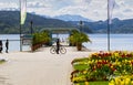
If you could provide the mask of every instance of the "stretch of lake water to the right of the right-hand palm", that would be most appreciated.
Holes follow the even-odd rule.
[[[106,34],[89,34],[92,43],[84,43],[89,50],[108,51]],[[133,34],[111,34],[110,35],[111,51],[133,51]]]

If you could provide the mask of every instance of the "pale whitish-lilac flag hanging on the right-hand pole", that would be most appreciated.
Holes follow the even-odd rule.
[[[112,23],[112,12],[115,6],[115,0],[108,0],[109,24]]]

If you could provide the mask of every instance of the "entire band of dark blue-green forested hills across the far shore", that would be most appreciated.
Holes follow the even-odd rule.
[[[19,11],[0,11],[0,34],[16,34],[20,32]],[[74,19],[71,19],[74,20]],[[27,14],[25,24],[22,25],[22,33],[30,33],[33,21],[33,31],[40,31],[44,28],[79,28],[79,21],[63,21],[58,19],[45,18],[37,14]],[[83,20],[82,20],[83,21]],[[82,31],[86,33],[106,33],[108,21],[89,22],[83,21]],[[133,19],[120,20],[113,19],[111,24],[111,33],[133,33]]]

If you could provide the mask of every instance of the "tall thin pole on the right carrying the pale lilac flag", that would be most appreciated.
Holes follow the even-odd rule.
[[[110,52],[110,10],[109,10],[109,0],[108,0],[108,51]]]

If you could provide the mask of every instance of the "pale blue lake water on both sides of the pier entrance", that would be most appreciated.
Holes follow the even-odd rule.
[[[61,40],[66,40],[68,34],[53,35],[59,36]],[[106,34],[89,34],[92,43],[83,43],[91,51],[108,51],[108,35]],[[0,40],[3,40],[3,52],[4,52],[4,40],[9,40],[9,52],[20,51],[20,38],[19,34],[0,34]],[[111,34],[111,51],[133,51],[133,34]],[[29,51],[30,46],[23,46],[23,51]]]

